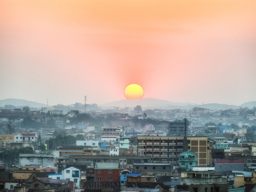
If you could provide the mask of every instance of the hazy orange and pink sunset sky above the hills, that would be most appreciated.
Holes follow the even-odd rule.
[[[256,1],[0,0],[0,100],[256,100]]]

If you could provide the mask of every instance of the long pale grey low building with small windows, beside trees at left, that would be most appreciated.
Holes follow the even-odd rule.
[[[19,155],[20,166],[26,165],[42,165],[46,167],[48,165],[54,166],[53,155],[44,154],[20,154]]]

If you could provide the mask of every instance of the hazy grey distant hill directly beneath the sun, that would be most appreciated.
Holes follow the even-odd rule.
[[[140,105],[143,108],[165,108],[171,106],[189,106],[196,105],[195,103],[180,103],[180,102],[172,102],[167,100],[160,100],[154,98],[142,98],[142,99],[123,99],[119,101],[112,101],[108,103],[104,103],[99,105],[100,107],[136,107]]]

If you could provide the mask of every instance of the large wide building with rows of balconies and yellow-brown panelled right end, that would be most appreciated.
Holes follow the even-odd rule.
[[[207,137],[138,136],[137,155],[151,156],[152,163],[172,163],[179,166],[180,153],[198,153],[198,166],[210,165],[210,141]]]

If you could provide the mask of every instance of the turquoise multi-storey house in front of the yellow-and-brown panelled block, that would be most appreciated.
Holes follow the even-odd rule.
[[[179,167],[189,171],[192,167],[197,167],[197,153],[192,151],[187,151],[180,153]]]

